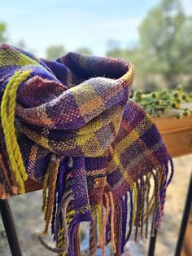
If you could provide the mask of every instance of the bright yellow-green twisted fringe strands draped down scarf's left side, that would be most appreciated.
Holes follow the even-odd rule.
[[[22,82],[29,76],[31,71],[16,72],[7,84],[1,104],[2,129],[5,136],[7,154],[10,160],[11,170],[15,173],[16,182],[19,185],[19,192],[24,193],[24,181],[28,174],[24,168],[20,147],[15,135],[15,105],[16,92]]]

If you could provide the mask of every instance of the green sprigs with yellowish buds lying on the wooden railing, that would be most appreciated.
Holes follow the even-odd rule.
[[[182,104],[192,102],[192,94],[187,94],[182,86],[177,86],[176,90],[162,90],[144,93],[135,90],[132,99],[153,116],[159,117],[165,110],[177,109],[173,116],[181,118],[189,117],[192,113],[189,108],[182,107]]]

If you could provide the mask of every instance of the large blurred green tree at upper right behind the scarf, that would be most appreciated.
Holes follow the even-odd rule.
[[[161,73],[169,86],[192,65],[192,16],[185,15],[180,0],[163,0],[139,27],[147,73]]]

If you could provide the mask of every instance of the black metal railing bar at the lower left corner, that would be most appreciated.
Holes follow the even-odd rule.
[[[15,222],[8,199],[0,200],[0,212],[2,214],[2,222],[7,233],[7,240],[11,249],[12,256],[22,256],[20,249],[20,241],[16,232]]]

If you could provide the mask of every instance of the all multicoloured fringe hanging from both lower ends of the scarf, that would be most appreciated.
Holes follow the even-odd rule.
[[[169,170],[171,172],[168,177]],[[75,216],[72,210],[73,197],[70,184],[66,186],[68,190],[55,188],[56,184],[61,183],[59,179],[63,179],[63,173],[67,177],[68,172],[64,170],[63,160],[53,157],[44,180],[42,210],[45,212],[46,221],[44,234],[48,230],[52,213],[51,232],[57,246],[56,248],[48,246],[41,236],[40,241],[47,249],[58,253],[59,256],[80,255],[79,223],[74,223],[71,232],[69,231]],[[124,246],[133,232],[136,242],[138,236],[148,237],[150,220],[151,235],[153,235],[155,229],[160,227],[163,218],[166,189],[172,174],[173,164],[170,160],[164,166],[151,170],[137,180],[119,202],[115,201],[112,192],[107,189],[103,194],[103,203],[98,208],[98,214],[89,226],[89,254],[95,256],[97,248],[100,248],[105,256],[105,247],[109,242],[115,256],[123,254]]]

